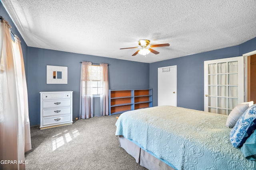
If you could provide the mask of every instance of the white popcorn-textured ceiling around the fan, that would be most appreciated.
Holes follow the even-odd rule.
[[[30,47],[153,63],[256,37],[256,0],[1,0]],[[1,15],[1,14],[0,14]],[[132,56],[139,39],[160,52]]]

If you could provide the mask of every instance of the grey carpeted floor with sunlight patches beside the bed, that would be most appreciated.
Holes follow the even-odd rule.
[[[44,130],[31,127],[26,170],[146,170],[119,147],[116,116],[80,119]]]

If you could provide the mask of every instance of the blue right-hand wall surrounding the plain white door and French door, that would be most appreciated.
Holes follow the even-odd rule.
[[[177,106],[204,110],[204,61],[238,57],[256,50],[256,38],[240,45],[150,64],[153,106],[158,105],[158,68],[177,65]]]

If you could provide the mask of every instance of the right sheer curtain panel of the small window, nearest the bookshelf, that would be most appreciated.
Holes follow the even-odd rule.
[[[100,95],[100,113],[108,115],[108,64],[102,63],[103,94]]]

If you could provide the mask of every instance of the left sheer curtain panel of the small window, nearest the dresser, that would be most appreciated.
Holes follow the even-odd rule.
[[[90,88],[90,66],[91,62],[83,61],[81,69],[81,89],[80,89],[80,118],[89,119],[93,117],[92,111],[92,90]]]

